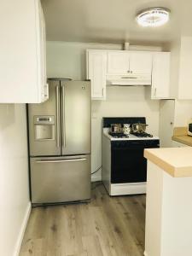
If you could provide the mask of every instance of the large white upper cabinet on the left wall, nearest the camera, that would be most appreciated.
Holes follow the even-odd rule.
[[[0,102],[44,102],[45,25],[40,1],[3,0],[0,15]]]

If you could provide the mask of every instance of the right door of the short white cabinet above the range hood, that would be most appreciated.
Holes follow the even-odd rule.
[[[132,52],[130,53],[130,73],[151,74],[152,53]]]

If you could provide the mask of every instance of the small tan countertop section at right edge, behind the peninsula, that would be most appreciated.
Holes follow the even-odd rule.
[[[192,137],[187,135],[187,127],[175,127],[172,140],[192,147]]]

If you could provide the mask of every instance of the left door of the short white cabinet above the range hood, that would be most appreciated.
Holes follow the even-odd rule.
[[[124,51],[108,53],[108,73],[127,74],[129,69],[129,54]]]

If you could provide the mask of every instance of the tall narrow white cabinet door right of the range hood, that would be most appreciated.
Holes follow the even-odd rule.
[[[158,52],[153,56],[152,99],[170,97],[170,53]]]

